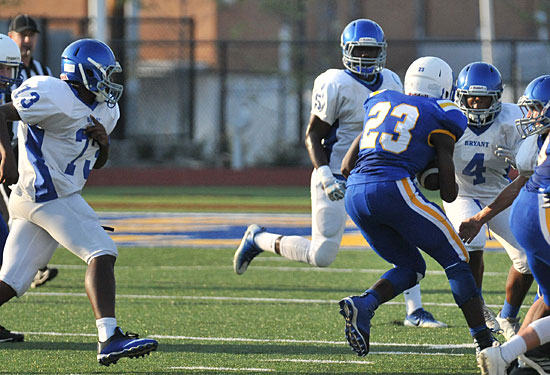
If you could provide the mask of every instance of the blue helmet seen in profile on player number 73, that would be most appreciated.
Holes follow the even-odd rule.
[[[78,82],[96,96],[96,101],[109,107],[119,101],[123,86],[111,81],[111,75],[122,68],[111,48],[96,39],[80,39],[61,54],[61,79]]]

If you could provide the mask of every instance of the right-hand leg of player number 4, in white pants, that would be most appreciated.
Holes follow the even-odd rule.
[[[506,340],[509,340],[519,330],[519,310],[533,283],[527,254],[510,231],[510,213],[511,210],[507,209],[489,222],[491,233],[504,247],[512,261],[506,279],[504,304],[497,316],[497,321]]]

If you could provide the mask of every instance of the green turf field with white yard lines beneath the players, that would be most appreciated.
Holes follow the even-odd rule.
[[[189,211],[309,210],[307,188],[90,188],[85,196],[98,211],[115,203],[120,204],[116,211],[178,211],[182,206]],[[51,262],[59,276],[1,308],[0,324],[26,338],[0,344],[0,374],[479,373],[466,323],[444,273],[430,258],[423,301],[449,328],[404,327],[405,308],[398,296],[377,310],[371,353],[359,358],[345,342],[337,301],[361,293],[389,267],[372,251],[343,250],[327,269],[262,254],[242,276],[232,270],[234,249],[132,247],[119,252],[118,322],[124,330],[156,338],[158,351],[110,367],[96,363],[85,266],[59,249]],[[509,266],[505,253],[486,253],[484,296],[495,309],[504,298]]]

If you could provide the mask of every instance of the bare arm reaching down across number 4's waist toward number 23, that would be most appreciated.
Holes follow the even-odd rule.
[[[519,191],[529,178],[518,176],[495,197],[493,202],[484,207],[476,215],[465,219],[458,228],[458,235],[465,243],[470,243],[479,233],[485,223],[504,211],[514,202]]]

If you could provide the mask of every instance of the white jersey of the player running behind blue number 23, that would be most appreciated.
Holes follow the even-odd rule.
[[[342,159],[363,129],[363,104],[368,96],[373,91],[384,89],[403,92],[403,84],[397,74],[384,69],[380,75],[382,80],[376,85],[368,85],[342,69],[329,69],[315,79],[311,114],[332,127],[323,145],[333,174],[342,174]]]

